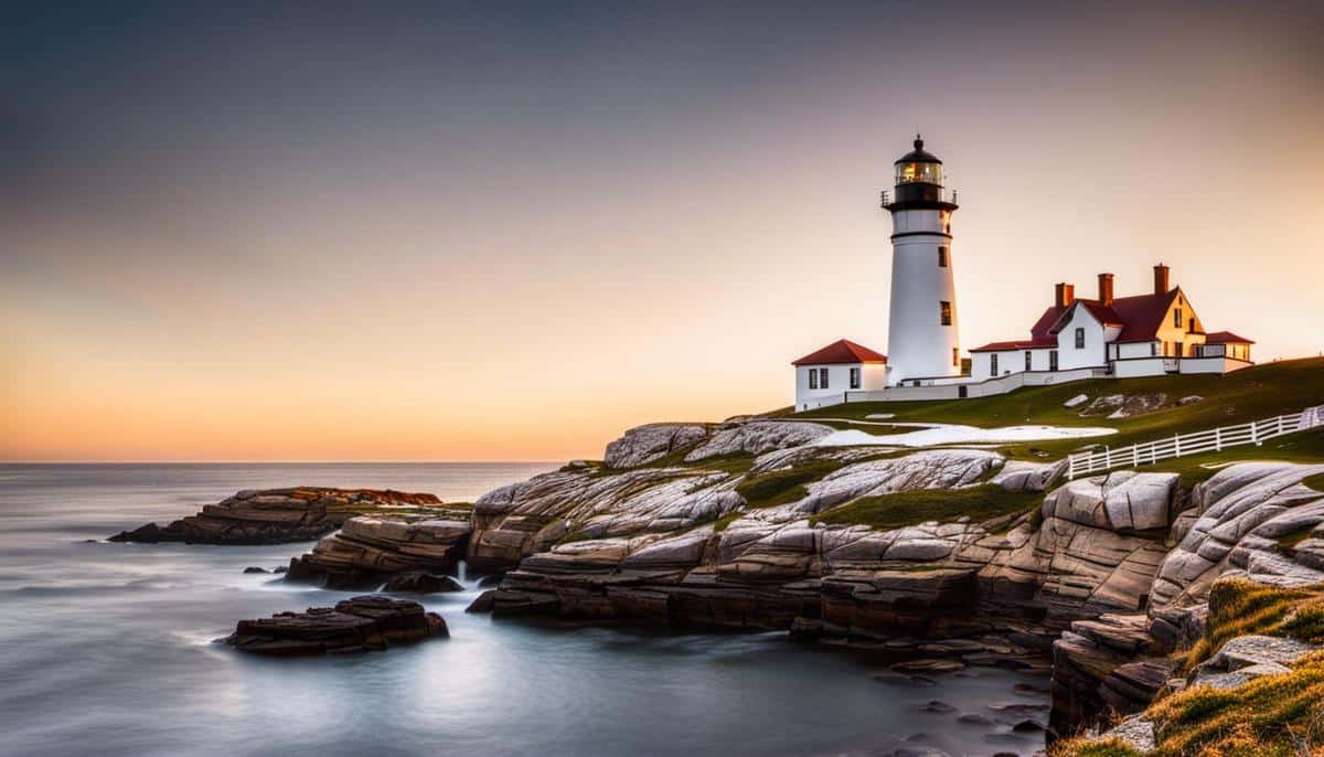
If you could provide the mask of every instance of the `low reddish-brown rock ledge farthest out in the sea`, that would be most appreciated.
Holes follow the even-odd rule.
[[[148,523],[111,536],[111,541],[184,541],[188,544],[282,544],[308,541],[364,512],[400,513],[441,506],[430,494],[393,490],[294,487],[241,491],[168,525]]]

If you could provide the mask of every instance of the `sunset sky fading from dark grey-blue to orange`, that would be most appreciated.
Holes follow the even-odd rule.
[[[878,192],[960,192],[961,343],[1172,266],[1324,348],[1324,5],[7,4],[0,459],[553,461],[887,349]]]

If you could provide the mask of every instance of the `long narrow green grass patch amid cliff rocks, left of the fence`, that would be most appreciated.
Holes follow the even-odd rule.
[[[982,523],[1038,508],[1042,502],[1042,492],[1006,491],[996,484],[957,490],[927,488],[863,496],[813,516],[810,524],[891,529],[928,520],[955,520],[963,515]]]

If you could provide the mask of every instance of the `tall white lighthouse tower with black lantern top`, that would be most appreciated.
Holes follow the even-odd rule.
[[[883,192],[892,214],[888,386],[961,373],[952,282],[956,193],[943,188],[943,161],[924,151],[919,135],[895,165],[895,193]]]

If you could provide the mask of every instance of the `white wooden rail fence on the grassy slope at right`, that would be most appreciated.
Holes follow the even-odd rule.
[[[1192,434],[1173,434],[1129,447],[1115,450],[1104,447],[1103,451],[1078,453],[1067,458],[1067,478],[1074,479],[1116,467],[1136,467],[1169,458],[1221,451],[1223,447],[1259,445],[1264,439],[1295,434],[1321,425],[1324,425],[1324,405],[1237,426],[1222,426]]]

